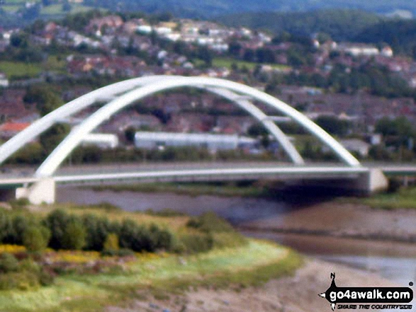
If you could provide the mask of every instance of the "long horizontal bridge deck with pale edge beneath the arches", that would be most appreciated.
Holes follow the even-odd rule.
[[[416,175],[416,166],[347,167],[334,164],[293,166],[288,163],[149,163],[106,166],[68,166],[53,177],[56,183],[100,183],[106,180],[241,180],[258,178],[315,179],[356,178],[371,168],[379,168],[386,175]],[[0,187],[27,185],[39,178],[30,176],[26,168],[0,175]],[[13,176],[14,175],[14,176]]]

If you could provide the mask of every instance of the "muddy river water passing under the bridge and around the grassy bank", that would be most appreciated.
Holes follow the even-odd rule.
[[[243,197],[189,196],[171,193],[93,191],[81,187],[58,187],[57,202],[98,204],[109,202],[127,211],[174,209],[190,215],[214,211],[235,226],[251,221],[285,222],[293,207],[288,202]],[[319,216],[317,216],[319,217]],[[332,262],[376,272],[399,285],[416,280],[416,243],[366,241],[353,238],[243,231],[245,235],[267,238],[304,253]]]

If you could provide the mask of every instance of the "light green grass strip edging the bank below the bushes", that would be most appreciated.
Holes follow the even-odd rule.
[[[241,248],[180,259],[178,255],[137,255],[123,272],[68,275],[50,287],[0,291],[0,311],[102,311],[105,306],[143,299],[140,289],[162,296],[190,287],[247,287],[290,275],[301,263],[300,256],[287,248],[254,240]]]

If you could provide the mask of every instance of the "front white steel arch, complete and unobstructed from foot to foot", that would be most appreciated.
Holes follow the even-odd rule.
[[[69,135],[61,142],[57,148],[52,151],[50,156],[47,157],[45,162],[38,168],[35,175],[38,177],[51,176],[56,169],[60,166],[60,163],[69,155],[69,153],[77,147],[86,134],[89,134],[96,127],[101,125],[102,122],[108,120],[113,114],[119,110],[131,105],[141,98],[150,96],[160,91],[166,91],[172,88],[180,87],[195,87],[195,88],[224,88],[236,93],[243,94],[259,100],[271,107],[279,110],[283,115],[291,117],[300,125],[308,129],[324,144],[332,149],[339,158],[344,161],[348,166],[360,166],[359,161],[352,156],[344,147],[339,144],[330,134],[327,134],[322,128],[317,126],[308,117],[305,117],[302,113],[298,112],[291,106],[283,103],[281,100],[269,96],[268,94],[259,91],[255,88],[244,86],[241,83],[235,83],[232,81],[226,81],[223,79],[213,79],[206,77],[180,77],[176,79],[156,81],[149,83],[142,88],[138,88],[134,91],[125,93],[123,96],[112,100],[110,103],[104,105],[102,108],[94,112],[91,116],[86,118],[80,127],[74,129]]]

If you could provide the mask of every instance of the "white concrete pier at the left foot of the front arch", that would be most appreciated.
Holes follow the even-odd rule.
[[[44,178],[28,187],[16,189],[16,199],[27,198],[31,204],[53,204],[55,202],[55,180]]]

